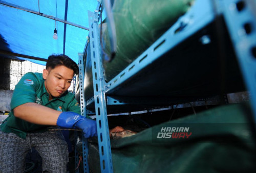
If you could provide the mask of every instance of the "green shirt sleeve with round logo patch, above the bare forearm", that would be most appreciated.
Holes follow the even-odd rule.
[[[35,102],[36,90],[39,80],[34,73],[26,73],[16,84],[12,99],[11,109],[28,102]]]

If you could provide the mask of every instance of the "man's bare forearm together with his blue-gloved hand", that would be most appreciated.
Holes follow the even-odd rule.
[[[25,103],[14,108],[14,116],[31,123],[80,128],[85,138],[97,136],[96,121],[74,112],[60,112],[37,103]]]

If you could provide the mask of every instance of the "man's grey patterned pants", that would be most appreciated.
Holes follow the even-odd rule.
[[[60,131],[28,133],[26,139],[0,131],[0,173],[24,172],[31,147],[40,154],[43,171],[67,172],[68,147]]]

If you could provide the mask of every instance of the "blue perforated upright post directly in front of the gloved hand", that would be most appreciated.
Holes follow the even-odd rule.
[[[105,82],[103,76],[100,40],[98,31],[98,12],[88,11],[89,34],[92,57],[93,89],[97,119],[99,158],[101,172],[113,172],[110,147],[109,125],[106,114]]]

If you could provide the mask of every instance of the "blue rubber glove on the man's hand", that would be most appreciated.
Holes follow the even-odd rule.
[[[62,112],[57,119],[57,125],[64,128],[79,128],[84,138],[97,136],[96,121],[74,112]]]

